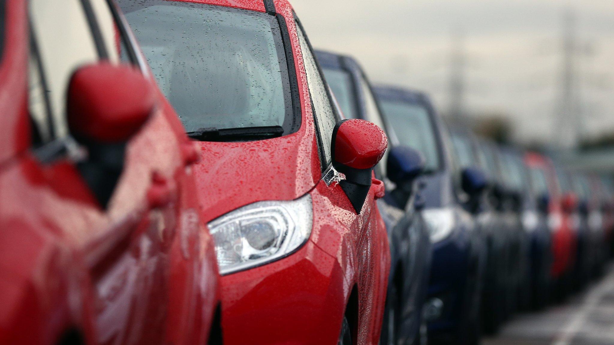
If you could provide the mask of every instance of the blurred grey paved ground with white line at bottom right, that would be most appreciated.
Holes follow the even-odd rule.
[[[483,345],[614,344],[614,266],[586,292],[561,306],[521,314]]]

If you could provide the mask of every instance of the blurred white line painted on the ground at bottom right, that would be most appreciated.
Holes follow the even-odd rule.
[[[573,337],[580,331],[580,328],[586,322],[586,318],[591,311],[599,304],[599,301],[604,297],[608,290],[614,289],[614,276],[609,274],[607,279],[604,279],[589,293],[586,297],[583,306],[575,314],[573,319],[562,328],[561,333],[557,336],[552,345],[570,345]]]

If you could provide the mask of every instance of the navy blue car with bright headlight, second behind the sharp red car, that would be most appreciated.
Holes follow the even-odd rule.
[[[374,90],[384,117],[394,124],[398,142],[425,158],[418,183],[433,243],[425,308],[429,343],[476,344],[486,251],[465,203],[481,197],[486,179],[480,172],[461,171],[454,165],[448,130],[427,96],[397,87]]]

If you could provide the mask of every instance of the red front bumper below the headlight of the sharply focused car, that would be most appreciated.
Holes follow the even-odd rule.
[[[221,285],[224,344],[336,344],[350,285],[313,242]]]

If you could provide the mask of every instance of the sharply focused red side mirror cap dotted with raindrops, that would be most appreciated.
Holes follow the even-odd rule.
[[[333,132],[333,161],[353,169],[371,169],[384,157],[386,133],[374,123],[353,118]]]

